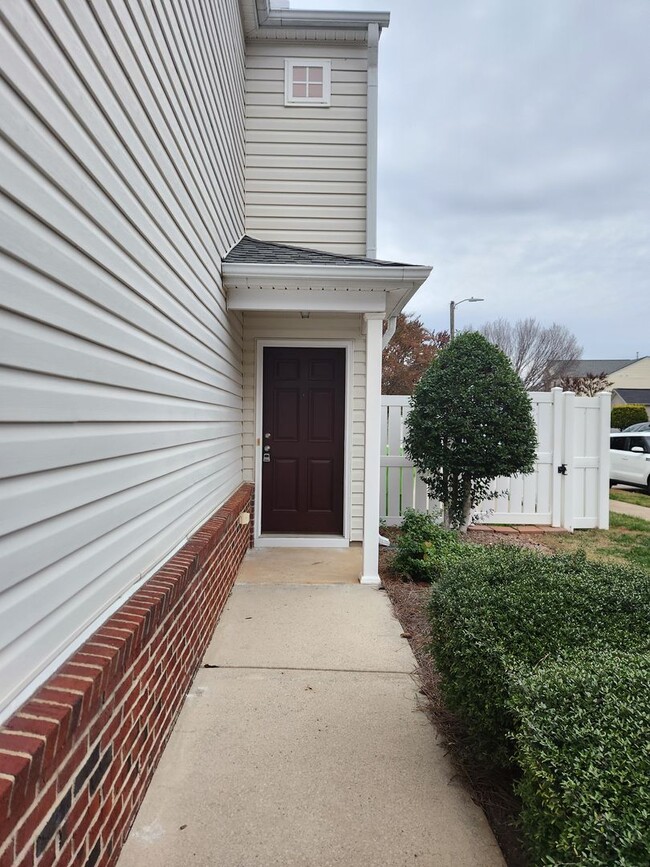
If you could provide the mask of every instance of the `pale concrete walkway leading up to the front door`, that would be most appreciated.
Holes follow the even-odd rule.
[[[255,561],[256,583],[235,586],[119,867],[503,867],[418,709],[385,593],[277,583],[272,568],[263,583],[264,553],[243,569]],[[336,555],[313,556],[336,581]]]

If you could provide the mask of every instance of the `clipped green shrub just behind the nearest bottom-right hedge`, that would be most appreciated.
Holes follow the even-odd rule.
[[[645,572],[506,545],[466,545],[441,572],[431,649],[445,700],[483,761],[511,759],[513,678],[580,648],[631,650],[648,640]]]

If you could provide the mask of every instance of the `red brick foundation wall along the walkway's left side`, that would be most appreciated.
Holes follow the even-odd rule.
[[[250,543],[242,487],[0,728],[0,867],[116,863]]]

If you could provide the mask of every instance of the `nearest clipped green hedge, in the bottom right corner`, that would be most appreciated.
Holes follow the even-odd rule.
[[[650,864],[650,655],[582,654],[513,689],[535,864]]]

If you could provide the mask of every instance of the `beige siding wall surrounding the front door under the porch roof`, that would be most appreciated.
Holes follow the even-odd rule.
[[[350,461],[350,541],[363,539],[363,474],[365,436],[366,351],[362,320],[358,315],[325,316],[299,313],[244,314],[244,478],[255,481],[255,413],[257,341],[351,340],[353,341],[352,425]],[[259,493],[261,496],[261,492]]]

